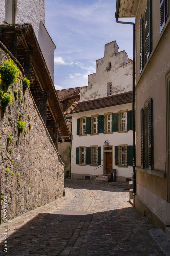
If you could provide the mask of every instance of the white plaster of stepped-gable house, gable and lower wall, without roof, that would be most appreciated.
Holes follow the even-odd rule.
[[[110,65],[110,66],[109,66]],[[111,87],[108,88],[108,85]],[[111,90],[111,91],[110,91]],[[128,56],[125,51],[118,52],[118,46],[116,41],[110,42],[105,45],[104,49],[104,58],[101,58],[96,61],[96,73],[90,74],[88,76],[88,87],[82,88],[80,90],[80,102],[73,103],[72,109],[69,113],[69,110],[66,111],[66,114],[72,115],[72,171],[71,177],[75,179],[85,179],[88,178],[93,179],[96,178],[97,175],[107,174],[107,161],[106,161],[106,146],[104,146],[104,142],[108,140],[108,147],[111,149],[108,151],[112,153],[112,169],[116,169],[116,177],[118,182],[125,182],[131,180],[133,166],[126,165],[123,166],[120,164],[120,150],[123,145],[132,147],[133,145],[133,133],[132,128],[126,131],[111,131],[107,132],[107,128],[100,133],[93,134],[93,131],[90,134],[78,134],[77,135],[77,120],[82,120],[83,118],[91,118],[93,120],[94,116],[104,116],[104,126],[106,126],[107,122],[107,114],[115,114],[119,113],[119,127],[121,121],[121,113],[132,111],[132,101],[123,102],[120,104],[116,104],[116,102],[109,106],[105,105],[105,102],[102,106],[95,108],[90,106],[87,111],[77,110],[78,104],[86,104],[86,102],[93,102],[94,99],[104,98],[104,101],[107,101],[107,97],[113,97],[114,94],[122,97],[122,93],[132,91],[132,61],[128,60]],[[108,96],[107,96],[108,95]],[[111,98],[110,98],[111,99]],[[97,103],[97,102],[96,102]],[[76,110],[74,111],[74,105],[76,105]],[[132,113],[132,112],[131,112]],[[113,116],[112,116],[113,120]],[[79,122],[79,121],[78,121]],[[93,121],[91,121],[93,123]],[[91,123],[91,125],[92,125]],[[80,124],[82,126],[82,123]],[[80,129],[83,130],[82,127]],[[76,163],[76,150],[79,148],[79,159],[81,161],[81,153],[80,150],[82,147],[90,147],[90,152],[92,152],[93,147],[101,147],[101,164],[79,164]],[[115,147],[119,147],[119,164],[115,163]],[[92,155],[91,155],[92,156]],[[133,158],[133,157],[132,157]],[[132,161],[133,162],[133,161]],[[98,168],[100,167],[100,168]],[[98,168],[98,169],[96,169]],[[95,176],[94,176],[94,169]],[[109,174],[109,173],[108,173]],[[109,174],[110,175],[110,174]],[[86,177],[85,177],[86,176]]]

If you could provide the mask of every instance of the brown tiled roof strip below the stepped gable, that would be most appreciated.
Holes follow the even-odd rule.
[[[120,105],[129,102],[132,102],[132,91],[110,95],[99,99],[73,103],[70,108],[64,112],[64,114],[82,112],[91,109],[106,108],[108,106]]]

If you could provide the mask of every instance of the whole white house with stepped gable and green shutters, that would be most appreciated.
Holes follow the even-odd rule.
[[[80,101],[65,111],[72,116],[73,179],[110,178],[111,169],[118,182],[132,178],[132,60],[127,57],[116,41],[105,45]]]

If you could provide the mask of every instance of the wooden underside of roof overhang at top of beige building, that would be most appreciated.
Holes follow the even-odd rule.
[[[136,16],[139,0],[116,0],[116,15],[120,18]]]

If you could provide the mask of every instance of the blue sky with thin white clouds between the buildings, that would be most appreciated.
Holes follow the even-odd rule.
[[[132,29],[115,20],[116,0],[45,0],[45,26],[53,39],[57,90],[87,86],[104,57],[104,44],[116,40],[132,59]],[[134,18],[120,18],[134,22]]]

